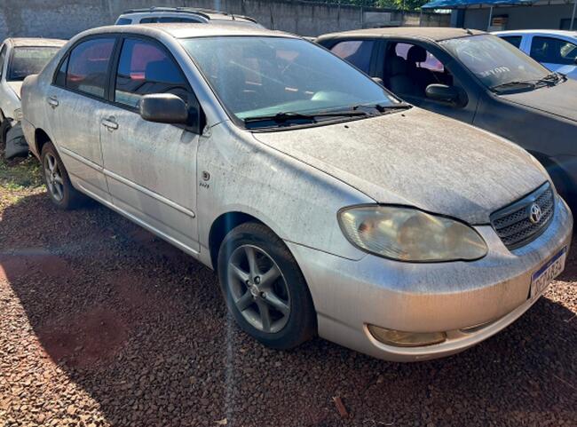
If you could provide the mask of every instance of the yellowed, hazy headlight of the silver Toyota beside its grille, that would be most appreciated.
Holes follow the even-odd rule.
[[[344,235],[361,250],[413,262],[485,257],[483,238],[469,225],[397,206],[356,206],[338,213]]]

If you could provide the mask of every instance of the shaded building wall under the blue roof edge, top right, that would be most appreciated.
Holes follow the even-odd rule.
[[[548,6],[495,7],[493,16],[509,15],[505,29],[559,29],[562,19],[571,19],[573,4]],[[489,9],[467,9],[464,11],[464,28],[486,30]]]

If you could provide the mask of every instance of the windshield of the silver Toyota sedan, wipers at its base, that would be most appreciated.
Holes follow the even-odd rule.
[[[301,39],[222,36],[181,43],[239,120],[399,105],[367,75]]]

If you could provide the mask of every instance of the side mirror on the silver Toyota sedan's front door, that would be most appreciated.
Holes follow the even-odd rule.
[[[188,123],[185,101],[172,93],[153,93],[140,99],[140,116],[148,122]]]

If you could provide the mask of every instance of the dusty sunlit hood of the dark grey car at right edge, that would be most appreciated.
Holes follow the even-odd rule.
[[[577,81],[574,80],[535,91],[510,93],[499,97],[577,122]]]

